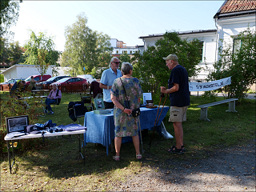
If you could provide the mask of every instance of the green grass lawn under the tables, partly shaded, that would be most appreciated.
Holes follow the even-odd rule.
[[[80,101],[80,95],[62,94],[62,102],[55,106],[55,113],[39,117],[37,122],[44,123],[51,119],[58,125],[78,123],[68,115],[67,106],[71,101]],[[175,144],[175,140],[162,138],[157,132],[149,147],[152,131],[143,138],[145,153],[142,154],[142,161],[136,160],[132,142],[122,144],[120,162],[112,159],[114,150],[106,156],[105,146],[88,143],[86,164],[83,164],[78,154],[76,135],[70,139],[46,138],[45,142],[42,142],[42,138],[24,139],[18,141],[15,150],[13,174],[9,171],[6,149],[1,153],[1,190],[111,190],[110,182],[123,182],[126,176],[132,177],[149,170],[158,171],[158,167],[174,169],[170,158],[177,158],[181,162],[208,158],[213,150],[238,143],[242,145],[255,137],[255,100],[238,102],[237,113],[225,112],[228,103],[209,107],[208,118],[211,121],[204,122],[198,119],[200,108],[196,106],[208,102],[206,98],[191,96],[187,121],[182,123],[187,150],[185,154],[167,153],[166,150]],[[166,130],[174,135],[168,116],[164,119]],[[84,118],[80,118],[82,125],[83,121]]]

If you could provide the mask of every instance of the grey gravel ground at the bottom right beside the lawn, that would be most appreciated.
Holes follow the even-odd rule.
[[[170,154],[166,170],[150,168],[126,182],[113,184],[126,191],[256,191],[255,139],[246,146],[216,150],[204,160],[179,161]]]

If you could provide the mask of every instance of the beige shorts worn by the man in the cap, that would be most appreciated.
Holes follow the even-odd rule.
[[[188,106],[170,106],[169,122],[185,122],[187,108]]]

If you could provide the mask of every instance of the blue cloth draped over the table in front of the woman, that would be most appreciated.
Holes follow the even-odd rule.
[[[154,122],[157,113],[159,116],[162,110],[159,120],[157,119],[158,125],[156,125],[160,126],[163,118],[166,117],[169,108],[169,106],[160,106],[158,110],[158,107],[141,107],[141,115],[139,116],[141,129],[154,130]],[[86,133],[84,134],[85,143],[100,143],[103,146],[106,146],[106,154],[109,155],[108,146],[111,144],[111,139],[114,139],[114,114],[94,114],[94,111],[86,112],[84,126],[87,128]]]

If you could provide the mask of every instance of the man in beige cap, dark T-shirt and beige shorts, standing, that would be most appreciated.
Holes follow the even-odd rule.
[[[178,64],[176,54],[169,54],[166,58],[166,66],[171,70],[168,80],[168,89],[161,86],[161,92],[170,96],[170,118],[173,122],[176,146],[168,150],[170,153],[183,154],[183,129],[182,122],[186,121],[186,110],[190,106],[190,90],[188,74],[183,66]]]

